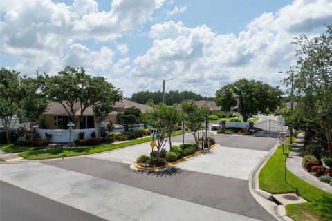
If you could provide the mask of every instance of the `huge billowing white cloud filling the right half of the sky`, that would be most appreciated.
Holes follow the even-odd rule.
[[[187,28],[181,21],[151,27],[153,44],[133,60],[133,77],[145,77],[142,90],[154,90],[152,81],[174,78],[168,90],[214,94],[224,84],[246,77],[279,85],[279,70],[294,62],[294,37],[332,21],[331,1],[294,1],[275,13],[264,13],[234,34],[216,35],[205,25]],[[328,22],[329,21],[329,22]],[[208,89],[207,89],[208,88]]]

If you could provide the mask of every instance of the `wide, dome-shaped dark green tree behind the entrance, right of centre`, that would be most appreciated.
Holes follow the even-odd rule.
[[[266,110],[275,111],[282,100],[282,90],[264,84],[261,81],[240,79],[216,91],[216,105],[224,111],[230,106],[238,104],[238,111],[247,122],[251,114]]]

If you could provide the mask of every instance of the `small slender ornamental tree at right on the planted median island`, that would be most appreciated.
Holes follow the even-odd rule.
[[[194,136],[195,143],[199,144],[199,130],[203,128],[205,118],[210,114],[207,106],[198,106],[196,102],[182,102],[181,104],[183,121]]]

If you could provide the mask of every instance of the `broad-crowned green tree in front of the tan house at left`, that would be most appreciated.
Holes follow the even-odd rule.
[[[58,75],[46,76],[46,95],[53,102],[62,104],[75,126],[83,120],[83,113],[97,102],[115,103],[122,99],[122,92],[107,82],[104,77],[91,77],[84,68],[66,67]],[[74,105],[80,105],[79,117]]]

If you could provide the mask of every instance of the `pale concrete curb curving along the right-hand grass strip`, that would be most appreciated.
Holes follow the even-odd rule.
[[[277,220],[292,221],[293,219],[289,218],[286,215],[286,209],[284,205],[276,204],[275,199],[273,198],[273,195],[271,193],[259,189],[259,178],[258,178],[259,172],[265,166],[266,162],[268,162],[268,159],[270,159],[273,153],[275,153],[278,146],[279,146],[279,141],[275,144],[275,146],[273,146],[273,148],[270,151],[268,151],[268,154],[266,154],[264,158],[261,159],[261,161],[250,172],[249,182],[248,182],[249,191],[254,196],[254,198],[255,195],[259,195],[260,197],[264,198],[264,200],[268,200],[268,203],[274,204],[272,210],[271,208],[267,208],[266,205],[261,204],[259,202],[259,204],[261,204],[261,206],[263,206],[264,209],[266,209],[266,211],[268,211],[268,213],[273,215],[273,217],[275,217]]]

